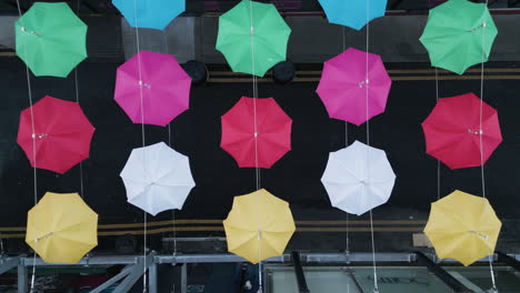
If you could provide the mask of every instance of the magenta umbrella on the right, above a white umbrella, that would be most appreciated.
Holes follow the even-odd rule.
[[[329,117],[360,125],[384,112],[391,84],[381,57],[349,48],[324,63],[316,92]]]

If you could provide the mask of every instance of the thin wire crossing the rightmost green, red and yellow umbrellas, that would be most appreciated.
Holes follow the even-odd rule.
[[[483,130],[482,130],[482,110],[483,110],[483,99],[484,99],[484,95],[483,95],[483,78],[484,78],[484,60],[486,60],[486,46],[484,46],[484,41],[486,41],[486,11],[488,9],[488,0],[486,0],[486,6],[484,6],[484,9],[483,9],[483,12],[482,12],[482,26],[481,26],[481,29],[482,29],[482,62],[481,62],[481,68],[480,68],[480,117],[479,117],[479,123],[480,123],[480,133],[479,133],[479,144],[480,144],[480,175],[481,175],[481,183],[482,183],[482,198],[486,199],[486,174],[484,174],[484,162],[483,162],[483,144],[482,144],[482,137],[483,137]],[[490,251],[490,254],[488,255],[488,261],[489,261],[489,272],[491,274],[491,283],[492,283],[492,287],[491,287],[491,291],[492,292],[498,292],[498,289],[497,289],[497,283],[496,283],[496,280],[494,280],[494,272],[493,272],[493,261],[492,261],[492,256],[493,256],[493,252]]]

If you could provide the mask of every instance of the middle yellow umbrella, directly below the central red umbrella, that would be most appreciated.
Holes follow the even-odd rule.
[[[228,251],[253,264],[283,254],[296,230],[289,203],[264,189],[234,196],[223,226]]]

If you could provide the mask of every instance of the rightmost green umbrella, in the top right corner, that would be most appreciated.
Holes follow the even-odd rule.
[[[488,61],[497,33],[486,4],[450,0],[430,10],[420,40],[433,67],[462,74],[482,62],[482,51],[483,61]]]

